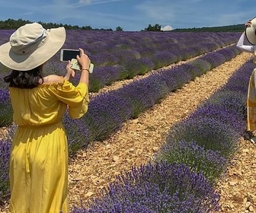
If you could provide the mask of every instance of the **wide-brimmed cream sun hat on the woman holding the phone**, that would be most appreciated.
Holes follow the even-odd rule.
[[[8,68],[27,71],[52,58],[66,40],[64,27],[44,29],[32,23],[19,27],[8,43],[0,46],[0,62]]]

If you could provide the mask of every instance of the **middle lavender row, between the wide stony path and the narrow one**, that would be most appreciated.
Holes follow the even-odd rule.
[[[78,120],[69,119],[65,116],[63,122],[66,126],[69,138],[69,153],[73,154],[80,148],[85,148],[89,141],[101,140],[111,133],[120,129],[127,119],[134,118],[144,110],[153,106],[165,95],[182,87],[187,81],[209,71],[211,68],[232,59],[240,51],[235,46],[210,52],[187,64],[177,65],[167,70],[162,69],[133,81],[131,84],[117,91],[110,91],[92,97],[89,103],[88,113]],[[2,100],[6,100],[0,112],[2,120],[11,118],[11,106],[8,92],[2,92]],[[10,119],[11,120],[11,119]],[[15,128],[15,126],[13,126]],[[78,134],[79,132],[79,134]],[[0,161],[0,196],[8,194],[8,142],[2,141]],[[0,197],[1,199],[1,197]]]

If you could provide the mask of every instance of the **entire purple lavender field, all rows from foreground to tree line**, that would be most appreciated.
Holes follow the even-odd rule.
[[[0,30],[0,44],[5,43],[10,34],[11,30]],[[240,51],[235,43],[239,36],[240,33],[69,30],[64,47],[82,47],[88,53],[95,65],[89,88],[98,93],[91,97],[88,113],[82,119],[73,120],[68,116],[63,119],[70,155],[86,148],[91,141],[107,138],[126,120],[136,118],[188,81],[237,56]],[[192,60],[186,62],[188,59]],[[184,63],[164,68],[180,61]],[[64,75],[65,66],[56,54],[45,73]],[[117,176],[102,193],[102,199],[91,200],[89,209],[75,207],[73,212],[217,210],[219,195],[214,191],[214,184],[245,129],[245,98],[250,75],[247,71],[251,71],[251,66],[251,61],[243,65],[229,83],[198,106],[195,113],[170,129],[166,145],[154,161]],[[8,157],[16,126],[11,124],[7,85],[2,81],[9,71],[2,65],[0,68],[0,127],[9,127],[9,138],[0,141],[1,205],[9,196]],[[152,70],[157,72],[151,74]],[[114,81],[146,73],[149,75],[145,78],[117,90],[98,92]]]

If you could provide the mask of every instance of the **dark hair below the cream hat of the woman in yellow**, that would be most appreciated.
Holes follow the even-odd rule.
[[[4,81],[9,83],[9,87],[32,89],[43,84],[41,72],[42,65],[28,71],[12,70],[10,75],[5,76]]]

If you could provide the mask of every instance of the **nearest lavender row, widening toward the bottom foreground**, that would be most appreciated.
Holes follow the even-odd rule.
[[[252,60],[229,82],[170,129],[166,144],[152,162],[116,177],[73,213],[212,212],[219,210],[216,180],[245,130],[248,79]]]

